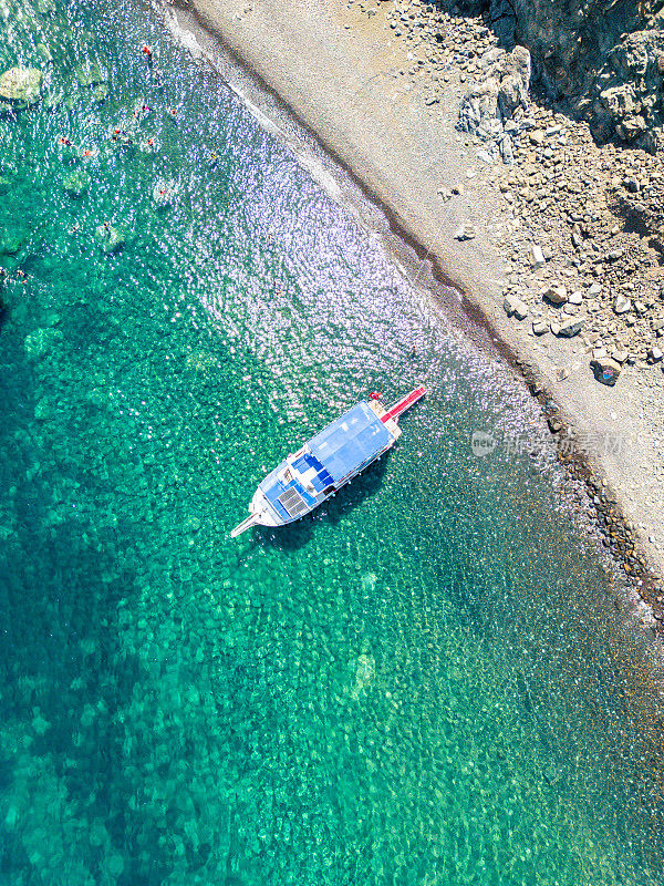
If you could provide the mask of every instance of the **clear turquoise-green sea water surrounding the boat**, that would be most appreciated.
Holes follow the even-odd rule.
[[[532,403],[144,13],[1,9],[2,69],[54,55],[52,110],[0,121],[2,882],[661,883],[598,548],[550,457],[470,452]],[[361,483],[228,539],[263,467],[422,380]]]

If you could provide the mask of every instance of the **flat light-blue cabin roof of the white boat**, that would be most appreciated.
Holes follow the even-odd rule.
[[[312,436],[307,445],[334,483],[339,483],[374,459],[391,441],[390,431],[362,400]]]

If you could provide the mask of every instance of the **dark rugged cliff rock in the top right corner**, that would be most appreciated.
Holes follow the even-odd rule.
[[[646,151],[664,146],[664,0],[460,0],[507,49],[527,47],[553,97]]]

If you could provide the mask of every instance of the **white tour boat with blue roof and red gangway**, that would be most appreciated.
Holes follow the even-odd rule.
[[[251,499],[249,516],[230,537],[252,526],[286,526],[326,502],[394,446],[401,436],[400,415],[425,393],[421,385],[390,409],[374,393],[334,419],[266,476]]]

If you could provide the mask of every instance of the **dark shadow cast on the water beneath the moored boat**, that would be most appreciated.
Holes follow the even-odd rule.
[[[304,547],[313,538],[317,523],[321,521],[328,521],[333,525],[341,523],[354,507],[378,491],[391,455],[392,452],[387,452],[380,461],[374,462],[366,471],[343,486],[333,498],[323,502],[302,519],[276,529],[257,526],[255,538],[263,545],[282,550],[299,550]]]

